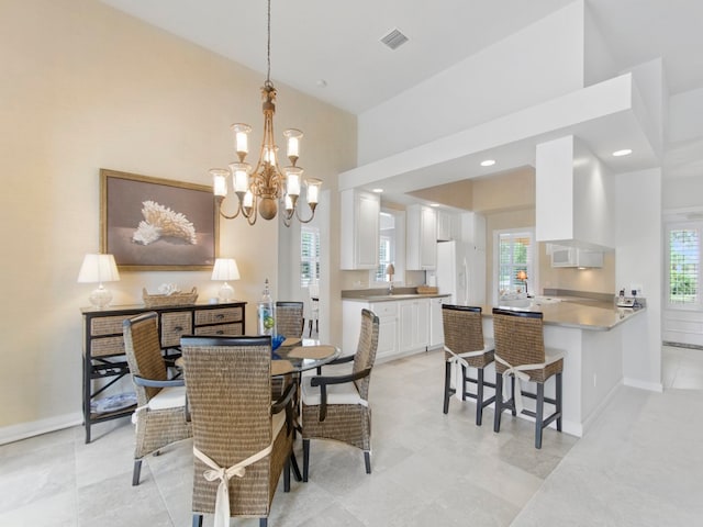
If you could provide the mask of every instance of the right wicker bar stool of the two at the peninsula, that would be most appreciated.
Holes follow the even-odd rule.
[[[561,372],[563,351],[545,348],[543,314],[538,312],[493,309],[495,338],[495,414],[493,431],[501,429],[501,414],[510,410],[535,418],[535,448],[542,448],[543,429],[554,421],[561,431]],[[545,382],[555,377],[555,397],[545,396]],[[510,386],[505,384],[510,378]],[[521,381],[535,382],[537,393],[523,392]],[[510,393],[505,393],[510,389]],[[536,401],[535,411],[525,410],[522,397]],[[555,411],[544,417],[545,403]]]

